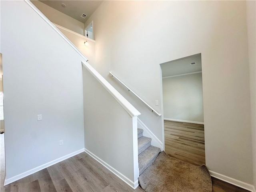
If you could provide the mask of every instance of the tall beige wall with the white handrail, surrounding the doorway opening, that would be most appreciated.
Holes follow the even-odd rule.
[[[253,183],[245,1],[104,1],[93,20],[95,68],[160,139],[162,120],[111,70],[161,112],[160,64],[201,53],[206,166]]]

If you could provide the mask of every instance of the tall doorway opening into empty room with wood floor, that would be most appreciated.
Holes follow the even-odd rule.
[[[165,152],[205,164],[201,54],[160,64]]]

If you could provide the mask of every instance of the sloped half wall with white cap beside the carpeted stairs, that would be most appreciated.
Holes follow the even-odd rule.
[[[135,189],[140,112],[92,66],[87,62],[82,65],[85,151]]]

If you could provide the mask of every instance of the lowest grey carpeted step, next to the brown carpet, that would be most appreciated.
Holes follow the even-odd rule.
[[[146,150],[144,150],[144,152],[139,154],[138,159],[140,175],[154,162],[160,151],[161,150],[158,147],[149,146]]]

